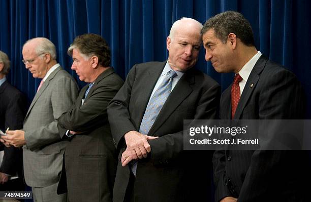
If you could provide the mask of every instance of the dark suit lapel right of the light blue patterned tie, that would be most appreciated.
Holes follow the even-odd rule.
[[[175,109],[180,105],[182,101],[188,97],[193,89],[191,85],[195,83],[194,74],[191,73],[192,70],[185,73],[177,85],[171,92],[170,96],[167,98],[166,102],[163,105],[158,117],[155,119],[154,124],[152,125],[148,134],[154,134],[162,124],[166,121],[166,119],[175,111]]]

